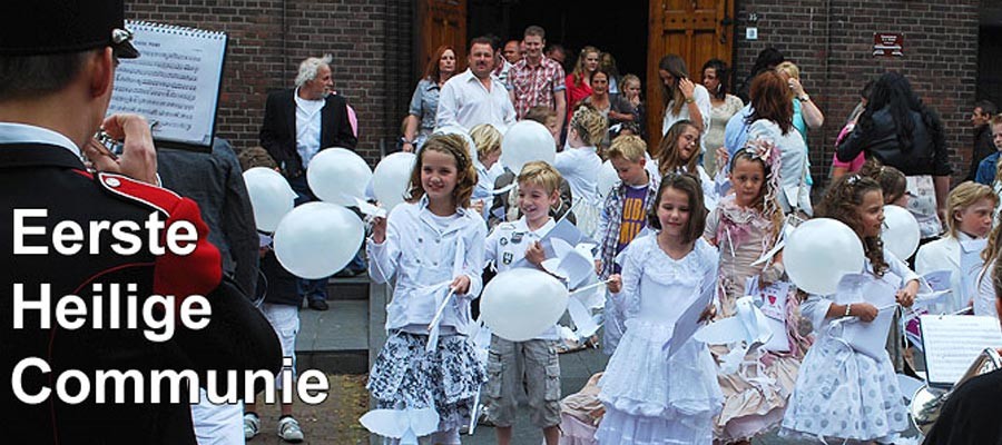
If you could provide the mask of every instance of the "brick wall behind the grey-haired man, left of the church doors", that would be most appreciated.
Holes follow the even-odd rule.
[[[413,87],[411,2],[403,0],[127,0],[126,18],[229,36],[217,136],[257,145],[269,91],[292,88],[299,61],[331,53],[334,89],[358,115],[358,151],[393,144]]]

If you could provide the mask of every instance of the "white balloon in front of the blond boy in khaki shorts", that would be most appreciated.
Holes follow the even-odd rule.
[[[488,283],[480,297],[480,314],[499,337],[525,342],[553,327],[567,310],[567,287],[553,276],[514,268]]]

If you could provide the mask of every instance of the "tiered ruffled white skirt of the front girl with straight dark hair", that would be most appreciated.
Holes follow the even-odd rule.
[[[600,444],[710,444],[723,394],[706,345],[689,340],[670,359],[672,326],[626,322],[599,382]]]

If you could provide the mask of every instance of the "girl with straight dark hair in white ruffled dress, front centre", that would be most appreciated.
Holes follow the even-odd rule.
[[[690,338],[669,358],[665,346],[682,313],[714,285],[718,255],[700,238],[706,214],[694,176],[668,175],[657,196],[649,222],[657,235],[635,239],[622,275],[610,277],[627,328],[599,382],[606,415],[596,439],[709,445],[723,400],[709,349]],[[708,307],[700,319],[709,316]]]

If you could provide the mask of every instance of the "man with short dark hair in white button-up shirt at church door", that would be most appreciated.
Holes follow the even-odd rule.
[[[478,37],[470,42],[466,65],[468,70],[442,87],[435,127],[459,126],[469,131],[477,125],[490,123],[503,134],[514,123],[515,112],[504,83],[491,76],[494,50],[490,39]]]

